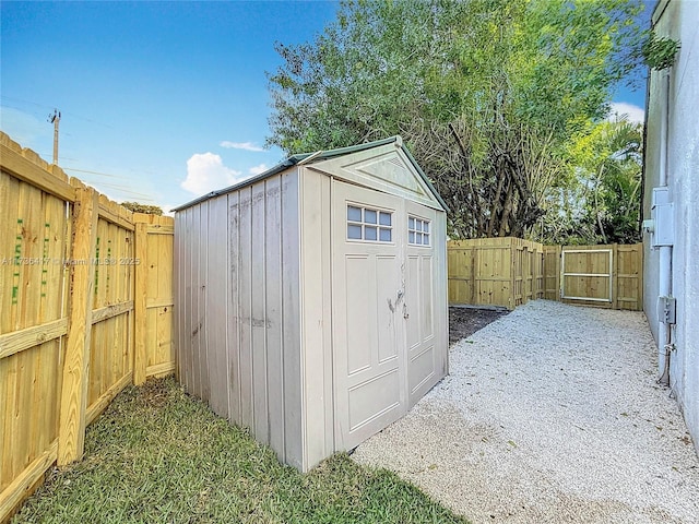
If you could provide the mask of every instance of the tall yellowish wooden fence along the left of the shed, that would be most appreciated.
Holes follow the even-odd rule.
[[[127,384],[175,369],[173,218],[0,133],[0,522]]]

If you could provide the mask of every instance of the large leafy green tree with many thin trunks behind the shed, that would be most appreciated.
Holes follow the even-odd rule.
[[[454,237],[523,236],[574,178],[569,142],[633,63],[636,0],[342,3],[312,43],[277,44],[269,144],[287,152],[401,134]],[[638,46],[637,46],[638,47]]]

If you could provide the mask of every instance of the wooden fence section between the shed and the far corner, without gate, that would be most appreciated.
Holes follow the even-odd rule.
[[[452,240],[447,245],[449,303],[514,309],[544,296],[544,251],[521,238]]]

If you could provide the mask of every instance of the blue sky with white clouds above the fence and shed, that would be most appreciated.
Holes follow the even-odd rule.
[[[272,167],[265,71],[330,1],[1,3],[0,128],[111,199],[168,210]],[[642,117],[644,92],[615,102]],[[640,110],[640,112],[639,112]],[[88,172],[91,171],[91,172]]]

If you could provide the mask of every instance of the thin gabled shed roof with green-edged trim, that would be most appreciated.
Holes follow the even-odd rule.
[[[427,178],[427,176],[425,175],[425,172],[423,171],[423,169],[419,167],[419,165],[417,164],[417,162],[415,160],[415,158],[413,157],[413,155],[411,154],[410,151],[407,151],[407,148],[405,147],[405,145],[403,144],[403,139],[400,135],[395,135],[395,136],[391,136],[389,139],[383,139],[383,140],[377,140],[375,142],[367,142],[366,144],[358,144],[358,145],[351,145],[348,147],[339,147],[336,150],[328,150],[328,151],[317,151],[316,153],[304,153],[304,154],[299,154],[299,155],[293,155],[289,156],[288,158],[286,158],[284,162],[281,162],[280,164],[277,164],[276,166],[268,169],[264,172],[261,172],[260,175],[257,175],[254,177],[250,177],[247,178],[238,183],[235,183],[228,188],[224,188],[217,191],[212,191],[211,193],[204,194],[202,196],[199,196],[198,199],[194,199],[190,202],[187,202],[186,204],[182,204],[178,207],[175,207],[173,211],[178,212],[178,211],[182,211],[186,210],[187,207],[191,207],[192,205],[199,204],[201,202],[205,202],[209,199],[213,199],[215,196],[220,196],[222,194],[226,194],[226,193],[230,193],[233,191],[237,191],[241,188],[245,188],[246,186],[250,186],[254,182],[258,182],[260,180],[263,180],[268,177],[277,175],[286,169],[288,169],[289,167],[296,166],[296,165],[300,165],[300,164],[315,164],[321,160],[328,160],[330,158],[334,158],[334,157],[339,157],[339,156],[344,156],[344,155],[348,155],[352,153],[357,153],[359,151],[366,151],[366,150],[370,150],[374,147],[380,147],[382,145],[387,145],[387,144],[391,144],[391,143],[395,143],[396,147],[400,147],[403,153],[405,154],[405,156],[408,158],[408,160],[411,162],[411,164],[413,165],[413,167],[415,168],[415,170],[417,171],[417,174],[419,175],[419,177],[422,178],[422,180],[425,182],[425,184],[427,186],[427,188],[429,188],[430,192],[433,193],[433,195],[435,196],[435,199],[437,200],[437,202],[439,202],[439,205],[441,205],[441,207],[447,211],[448,206],[445,203],[445,201],[442,200],[442,198],[439,195],[439,193],[437,192],[437,190],[435,189],[435,187],[431,184],[431,182],[429,181],[429,179]]]

